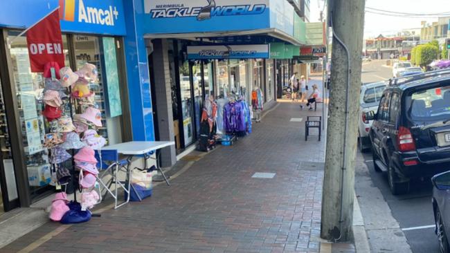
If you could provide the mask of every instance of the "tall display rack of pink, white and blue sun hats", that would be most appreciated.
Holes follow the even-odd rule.
[[[44,147],[50,149],[56,189],[64,186],[64,191],[55,195],[49,217],[64,224],[89,221],[93,216],[89,209],[100,203],[101,194],[94,149],[101,149],[107,142],[96,132],[97,127],[102,127],[102,115],[94,100],[95,93],[89,88],[97,82],[98,71],[89,63],[73,72],[69,67],[60,69],[55,62],[50,62],[44,66],[44,78],[42,114],[50,129]],[[74,188],[71,202],[66,198],[70,183]],[[81,203],[78,203],[77,189]]]

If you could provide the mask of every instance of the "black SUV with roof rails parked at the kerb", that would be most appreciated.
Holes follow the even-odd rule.
[[[390,80],[370,128],[376,171],[387,171],[393,194],[411,178],[450,170],[450,71]]]

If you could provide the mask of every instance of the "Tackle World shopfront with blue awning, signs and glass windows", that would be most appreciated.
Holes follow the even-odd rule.
[[[165,150],[170,165],[194,146],[206,95],[240,95],[264,91],[276,100],[276,60],[269,44],[300,46],[294,30],[298,14],[286,0],[144,0],[135,1],[138,35],[145,38],[156,139],[172,140]]]

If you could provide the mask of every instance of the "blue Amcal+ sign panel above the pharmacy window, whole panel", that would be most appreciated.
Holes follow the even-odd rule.
[[[60,0],[63,31],[125,35],[121,0]]]

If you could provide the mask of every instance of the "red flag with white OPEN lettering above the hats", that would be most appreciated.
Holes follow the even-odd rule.
[[[47,62],[64,67],[60,15],[54,10],[26,32],[31,72],[44,72]]]

